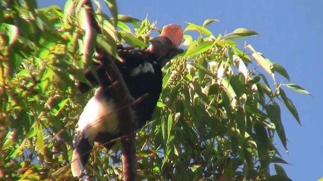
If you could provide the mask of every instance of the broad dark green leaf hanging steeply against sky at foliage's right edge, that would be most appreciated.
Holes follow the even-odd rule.
[[[268,117],[271,122],[275,124],[277,134],[285,148],[287,150],[287,139],[285,134],[285,129],[281,119],[281,109],[277,103],[268,104],[265,107]]]

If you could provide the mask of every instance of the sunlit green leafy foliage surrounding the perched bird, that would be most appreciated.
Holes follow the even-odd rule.
[[[84,68],[92,66],[93,53],[84,47],[94,52],[97,44],[111,54],[117,42],[145,47],[156,22],[118,15],[115,2],[108,0],[106,15],[95,2],[103,31],[85,44],[84,8],[75,2],[67,1],[64,10],[20,2],[0,6],[0,178],[72,179],[75,126],[93,95],[81,95],[75,86],[85,81]],[[280,165],[287,162],[273,144],[279,138],[287,150],[280,106],[299,124],[300,119],[283,89],[309,93],[277,81],[279,74],[289,82],[287,71],[251,45],[239,49],[238,39],[256,32],[238,28],[214,36],[206,28],[213,22],[187,23],[187,50],[165,67],[153,120],[136,137],[138,178],[290,180]],[[122,179],[120,153],[119,144],[109,152],[96,147],[88,176]]]

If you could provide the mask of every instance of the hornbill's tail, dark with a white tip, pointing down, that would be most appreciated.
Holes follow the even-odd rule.
[[[84,170],[85,164],[90,155],[92,146],[87,138],[84,138],[82,134],[80,141],[77,143],[72,155],[71,171],[73,176],[81,176]]]

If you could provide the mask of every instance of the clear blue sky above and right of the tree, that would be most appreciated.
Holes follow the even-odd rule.
[[[51,1],[38,2],[39,7],[52,4]],[[64,2],[57,1],[56,4],[64,8]],[[159,28],[171,23],[185,27],[185,21],[201,25],[205,19],[219,19],[220,22],[208,26],[214,35],[241,27],[260,33],[260,36],[247,38],[247,44],[282,65],[292,83],[302,86],[313,96],[285,89],[299,111],[302,127],[286,108],[282,109],[289,153],[286,154],[279,142],[277,146],[283,158],[291,164],[282,166],[296,181],[323,177],[323,122],[319,116],[323,101],[320,93],[323,79],[323,1],[117,0],[117,3],[120,14],[139,19],[148,14],[150,21],[158,20]]]

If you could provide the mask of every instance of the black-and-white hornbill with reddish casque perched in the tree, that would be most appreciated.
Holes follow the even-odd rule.
[[[118,55],[123,61],[114,62],[133,99],[142,98],[132,106],[136,120],[134,129],[141,128],[151,119],[163,83],[161,68],[175,55],[183,52],[179,48],[182,38],[181,27],[171,24],[164,26],[161,34],[150,40],[151,45],[147,49],[117,46]],[[114,101],[114,92],[109,88],[112,83],[103,66],[99,63],[94,65],[100,83],[90,70],[85,71],[85,78],[93,86],[101,86],[88,101],[78,120],[77,131],[81,132],[81,137],[72,155],[73,176],[81,176],[94,142],[109,150],[115,143],[113,140],[122,136],[118,128],[118,107]],[[91,89],[82,82],[78,84],[78,88],[83,93]]]

